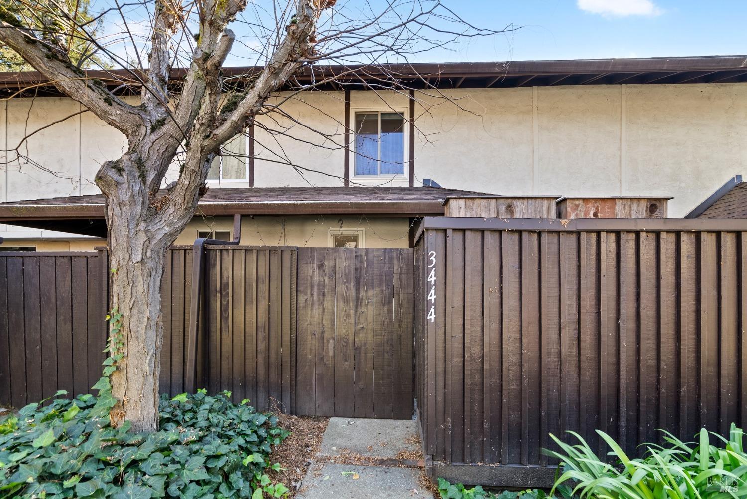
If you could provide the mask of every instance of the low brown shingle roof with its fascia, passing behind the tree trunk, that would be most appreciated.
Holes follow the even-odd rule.
[[[487,194],[441,187],[211,188],[199,200],[205,215],[229,214],[442,214],[447,196]],[[0,203],[0,220],[24,217],[104,216],[104,196],[54,197]]]

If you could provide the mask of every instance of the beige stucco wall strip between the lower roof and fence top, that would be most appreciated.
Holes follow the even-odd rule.
[[[176,238],[175,244],[193,244],[198,230],[232,230],[232,217],[195,217]],[[241,244],[326,247],[329,229],[363,229],[368,248],[406,248],[409,219],[406,217],[243,217]],[[233,234],[232,234],[233,237]]]

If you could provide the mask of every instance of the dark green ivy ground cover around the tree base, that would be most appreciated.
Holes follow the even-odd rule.
[[[105,379],[105,378],[102,378]],[[0,498],[252,498],[288,492],[265,473],[277,418],[224,392],[161,397],[160,430],[109,426],[99,397],[32,403],[0,421]],[[273,465],[279,469],[279,464]]]

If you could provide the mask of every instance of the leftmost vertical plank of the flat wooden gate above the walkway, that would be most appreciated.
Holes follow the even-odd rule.
[[[298,249],[296,412],[315,415],[316,404],[316,249]],[[360,416],[359,416],[360,417]]]

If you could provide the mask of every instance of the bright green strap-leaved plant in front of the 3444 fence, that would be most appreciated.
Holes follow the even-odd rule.
[[[701,429],[698,442],[684,442],[664,432],[666,447],[645,444],[642,458],[631,459],[606,433],[597,433],[618,462],[600,459],[577,433],[578,444],[566,444],[551,434],[560,451],[545,450],[562,462],[555,489],[574,483],[581,498],[728,499],[747,497],[747,453],[743,431],[731,425],[729,438]],[[710,436],[719,442],[711,445]],[[553,492],[554,492],[553,490]],[[552,492],[551,492],[552,493]]]

